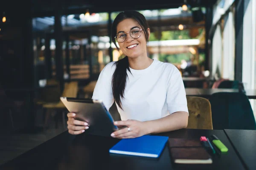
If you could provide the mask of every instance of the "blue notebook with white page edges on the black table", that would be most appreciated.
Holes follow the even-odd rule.
[[[168,136],[152,135],[144,135],[133,139],[122,139],[109,152],[158,158],[168,139]]]

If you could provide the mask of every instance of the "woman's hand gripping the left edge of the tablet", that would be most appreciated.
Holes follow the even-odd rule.
[[[68,132],[72,135],[78,135],[80,133],[83,133],[84,130],[88,129],[88,123],[82,122],[79,120],[76,120],[74,117],[76,116],[76,113],[67,113],[67,129]]]

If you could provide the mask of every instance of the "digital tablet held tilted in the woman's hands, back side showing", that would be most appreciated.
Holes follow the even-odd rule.
[[[98,136],[111,136],[118,130],[113,124],[114,120],[101,100],[60,97],[69,112],[76,113],[75,119],[87,122],[89,134]]]

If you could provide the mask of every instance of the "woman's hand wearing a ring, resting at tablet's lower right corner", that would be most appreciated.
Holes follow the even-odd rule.
[[[111,136],[114,138],[137,138],[143,135],[148,134],[148,129],[145,122],[140,122],[137,120],[125,120],[125,121],[116,121],[114,122],[116,126],[126,126],[120,130],[116,130],[111,133]]]

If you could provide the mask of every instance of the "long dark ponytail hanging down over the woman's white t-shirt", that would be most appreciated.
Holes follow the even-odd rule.
[[[116,65],[116,70],[112,77],[112,93],[116,104],[119,108],[123,109],[121,97],[124,98],[126,78],[128,77],[127,70],[130,71],[128,57],[125,56],[125,58],[120,59],[114,64]]]

